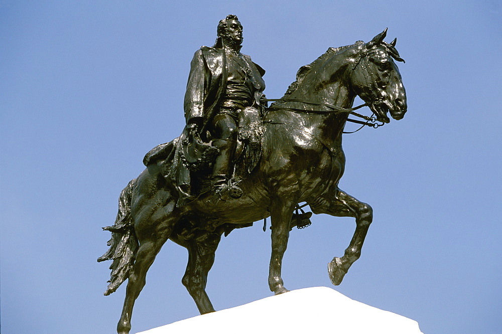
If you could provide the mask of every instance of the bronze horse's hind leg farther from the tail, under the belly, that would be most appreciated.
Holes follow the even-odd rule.
[[[200,314],[214,312],[205,288],[207,274],[213,266],[214,253],[220,239],[221,233],[207,232],[185,242],[180,242],[188,249],[188,264],[182,283],[197,304]]]

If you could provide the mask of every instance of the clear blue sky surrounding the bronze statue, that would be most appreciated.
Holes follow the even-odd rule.
[[[419,322],[425,333],[495,333],[502,320],[499,1],[0,3],[2,333],[111,333],[125,285],[103,296],[120,191],[155,145],[184,126],[193,53],[227,14],[242,52],[279,98],[328,47],[389,28],[408,113],[346,135],[340,188],[371,204],[361,258],[336,290]],[[332,286],[327,263],[353,219],[314,216],[291,233],[289,289]],[[220,243],[216,309],[271,295],[262,222]],[[137,300],[132,332],[197,315],[168,242]],[[306,305],[306,307],[308,307]],[[302,310],[292,316],[301,316]]]

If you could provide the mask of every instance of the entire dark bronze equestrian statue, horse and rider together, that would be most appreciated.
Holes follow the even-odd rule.
[[[229,27],[228,22],[236,26]],[[227,17],[225,24],[238,43],[241,28],[237,22],[236,18]],[[214,311],[205,286],[221,235],[226,236],[235,228],[250,226],[270,216],[269,288],[275,294],[287,292],[281,278],[281,266],[289,232],[300,224],[301,215],[295,213],[298,203],[306,202],[315,214],[355,218],[356,229],[345,254],[328,264],[332,283],[341,283],[352,263],[359,258],[372,221],[372,209],[368,204],[338,188],[345,165],[341,144],[344,125],[351,120],[348,116],[352,114],[366,120],[351,121],[374,125],[373,118],[354,112],[360,107],[352,108],[354,98],[359,96],[376,120],[383,123],[390,122],[387,113],[399,120],[407,110],[406,92],[394,62],[403,59],[395,48],[396,40],[390,44],[384,42],[386,33],[387,29],[368,43],[358,41],[349,46],[329,48],[314,62],[301,67],[296,81],[283,98],[265,110],[259,110],[265,101],[261,96],[263,72],[260,73],[256,65],[253,68],[249,58],[240,57],[238,50],[226,50],[223,34],[220,35],[222,44],[217,42],[213,49],[202,48],[195,54],[187,92],[192,89],[192,73],[200,71],[200,57],[206,57],[204,50],[219,54],[221,64],[223,49],[225,56],[233,52],[239,57],[237,64],[244,66],[240,63],[244,59],[251,68],[247,69],[250,72],[242,68],[249,77],[230,80],[235,68],[227,62],[227,67],[218,67],[221,72],[227,71],[226,82],[222,75],[218,79],[222,81],[214,86],[220,89],[226,84],[225,89],[221,88],[219,102],[215,97],[202,101],[192,99],[193,95],[187,93],[188,124],[182,135],[147,154],[144,160],[147,168],[121,192],[115,224],[104,228],[112,232],[108,242],[110,249],[98,259],[113,260],[105,295],[129,280],[118,333],[129,333],[134,302],[145,285],[150,265],[168,239],[188,250],[182,283],[204,314]],[[240,74],[244,75],[243,72]],[[233,89],[234,83],[240,88]],[[212,83],[205,82],[205,85],[213,87]],[[191,104],[192,100],[199,101],[202,111],[191,107],[195,105]],[[249,106],[263,112],[259,121],[254,110],[249,111],[250,117],[242,117]],[[240,113],[239,124],[235,113]],[[192,114],[199,118],[192,122]],[[234,128],[237,125],[240,127],[237,137],[228,128],[222,130],[225,126]],[[241,136],[241,133],[246,135]],[[235,138],[236,144],[231,141]],[[231,144],[218,146],[219,140],[229,139]],[[233,153],[225,153],[234,147]],[[224,154],[230,157],[222,157]],[[183,169],[185,171],[180,173]],[[187,175],[194,187],[189,194],[181,187]],[[220,175],[228,181],[226,191],[220,188],[214,191],[213,177]],[[241,192],[232,193],[232,187],[233,190],[238,187]]]

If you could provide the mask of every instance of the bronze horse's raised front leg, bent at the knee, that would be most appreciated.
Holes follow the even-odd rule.
[[[339,285],[348,269],[361,255],[364,238],[368,232],[369,224],[373,220],[373,210],[366,204],[359,202],[352,196],[337,189],[334,199],[325,199],[324,205],[312,208],[316,214],[326,213],[337,217],[354,217],[356,228],[345,254],[338,258],[334,257],[328,264],[329,278],[334,285]]]

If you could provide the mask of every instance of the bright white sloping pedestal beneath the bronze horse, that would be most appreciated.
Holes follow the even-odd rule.
[[[328,287],[313,287],[293,290],[141,332],[141,334],[173,333],[421,334],[422,332],[415,320],[352,300]]]

